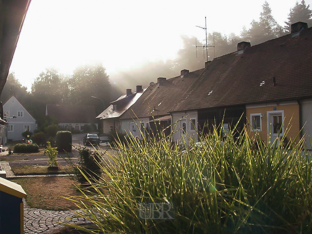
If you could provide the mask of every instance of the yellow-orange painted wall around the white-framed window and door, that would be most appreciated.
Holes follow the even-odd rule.
[[[256,108],[247,108],[246,107],[246,123],[251,123],[250,120],[250,114],[255,113],[265,113],[265,115],[261,118],[262,121],[262,131],[258,132],[261,139],[267,143],[267,134],[268,134],[268,128],[267,128],[267,111],[274,110],[273,108],[276,108],[276,110],[284,110],[284,132],[288,128],[290,128],[287,138],[294,139],[295,136],[300,131],[300,121],[299,121],[299,105],[298,104],[290,104],[290,105],[271,105],[271,106],[265,106],[265,107],[256,107]],[[291,121],[290,121],[291,119]],[[288,125],[289,124],[289,125]],[[248,128],[250,130],[250,125],[248,124]],[[251,136],[254,136],[255,132],[250,131]],[[299,139],[298,139],[299,140]],[[298,141],[297,140],[297,141]]]

